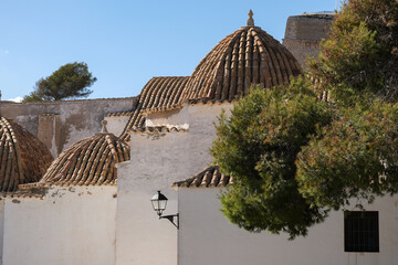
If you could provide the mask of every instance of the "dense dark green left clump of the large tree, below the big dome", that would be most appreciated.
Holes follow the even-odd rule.
[[[331,107],[303,80],[290,87],[253,91],[222,116],[211,149],[221,171],[237,179],[221,197],[223,213],[256,232],[305,235],[326,216],[298,193],[296,156],[318,128],[332,121]]]

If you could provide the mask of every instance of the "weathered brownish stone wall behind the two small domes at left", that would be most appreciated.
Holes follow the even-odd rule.
[[[75,141],[101,131],[101,121],[106,114],[132,112],[136,104],[136,97],[125,97],[7,103],[0,107],[4,117],[13,119],[38,136],[49,147],[53,157],[56,157]],[[121,129],[116,128],[115,132],[119,131]]]

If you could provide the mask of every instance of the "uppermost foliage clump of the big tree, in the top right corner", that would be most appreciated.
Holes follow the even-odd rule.
[[[341,103],[352,104],[364,95],[397,102],[398,1],[345,2],[318,60],[308,66]]]

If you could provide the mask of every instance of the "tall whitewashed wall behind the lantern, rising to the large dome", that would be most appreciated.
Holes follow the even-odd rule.
[[[161,190],[169,199],[165,214],[177,212],[177,193],[170,184],[211,162],[213,120],[221,108],[230,109],[231,105],[185,106],[168,117],[149,115],[147,124],[188,131],[132,135],[132,160],[117,165],[117,265],[177,264],[177,230],[167,220],[158,220],[149,200]]]

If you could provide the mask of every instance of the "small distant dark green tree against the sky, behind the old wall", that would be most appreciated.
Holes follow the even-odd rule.
[[[87,97],[87,87],[96,82],[85,63],[69,63],[46,78],[36,82],[34,91],[23,98],[24,102],[62,100]]]

